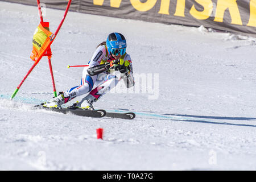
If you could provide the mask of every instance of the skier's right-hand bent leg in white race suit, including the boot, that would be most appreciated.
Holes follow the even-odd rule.
[[[114,88],[118,82],[119,82],[118,75],[105,75],[104,80],[97,80],[100,82],[99,86],[94,88],[90,93],[82,98],[81,102],[77,104],[77,107],[80,107],[82,109],[89,109],[93,110],[93,102],[96,102],[100,97],[102,97],[104,94],[108,93],[112,88]]]

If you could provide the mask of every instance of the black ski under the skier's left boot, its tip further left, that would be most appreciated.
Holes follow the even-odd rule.
[[[75,115],[81,115],[84,117],[93,117],[93,118],[101,118],[106,115],[106,111],[103,109],[97,109],[97,110],[83,110],[83,109],[68,109],[68,108],[48,108],[48,107],[43,107],[42,105],[36,105],[36,109],[44,109],[44,110],[50,110],[50,111],[55,111],[58,113],[63,113],[63,114],[68,114],[72,113]]]

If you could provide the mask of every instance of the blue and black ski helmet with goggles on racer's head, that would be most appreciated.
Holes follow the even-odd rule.
[[[106,40],[106,47],[108,49],[109,54],[113,55],[124,55],[126,52],[126,40],[125,37],[117,32],[111,33]]]

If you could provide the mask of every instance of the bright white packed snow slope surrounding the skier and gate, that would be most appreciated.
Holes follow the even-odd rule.
[[[46,9],[52,32],[63,14]],[[253,38],[69,12],[51,47],[57,92],[80,84],[82,68],[67,65],[87,64],[110,32],[125,35],[133,61],[135,88],[120,82],[94,106],[137,117],[99,119],[32,109],[53,97],[45,57],[9,101],[38,24],[37,7],[0,2],[0,169],[256,169]]]

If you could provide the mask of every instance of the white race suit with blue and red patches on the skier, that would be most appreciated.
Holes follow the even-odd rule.
[[[93,96],[91,98],[93,98],[94,101],[97,101],[98,98],[108,93],[110,89],[116,86],[121,79],[123,79],[127,88],[134,86],[133,65],[131,63],[131,57],[129,54],[125,53],[121,59],[126,62],[129,61],[129,65],[127,66],[127,69],[129,70],[128,73],[121,74],[119,71],[109,73],[108,71],[105,71],[98,75],[90,76],[87,72],[87,69],[114,60],[114,58],[109,55],[104,45],[98,46],[89,61],[89,66],[85,67],[82,71],[80,85],[68,89],[66,92],[64,92],[64,102],[66,103],[73,98],[88,92],[91,96]]]

